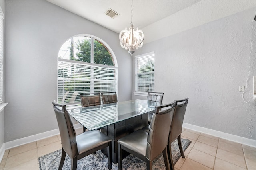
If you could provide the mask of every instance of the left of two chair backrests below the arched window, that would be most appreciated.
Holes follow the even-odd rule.
[[[100,105],[100,93],[80,94],[82,107]]]

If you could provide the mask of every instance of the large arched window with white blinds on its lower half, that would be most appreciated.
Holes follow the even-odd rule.
[[[93,36],[66,41],[58,53],[58,102],[80,104],[80,94],[117,92],[117,63],[106,43]]]

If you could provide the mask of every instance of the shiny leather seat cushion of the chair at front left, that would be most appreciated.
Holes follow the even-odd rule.
[[[112,141],[110,137],[97,130],[81,133],[76,136],[78,154],[87,152],[110,141]]]

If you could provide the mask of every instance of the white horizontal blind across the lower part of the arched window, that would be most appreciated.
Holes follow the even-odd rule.
[[[58,102],[80,104],[80,94],[117,91],[117,67],[58,59]]]

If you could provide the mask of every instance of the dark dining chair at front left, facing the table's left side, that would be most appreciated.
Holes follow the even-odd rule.
[[[55,101],[52,101],[52,104],[58,122],[62,144],[59,170],[63,167],[66,154],[71,158],[71,170],[76,170],[79,159],[106,147],[108,150],[108,169],[111,169],[112,139],[97,130],[87,131],[76,136],[76,131],[70,115],[66,110],[66,105],[58,104]]]

